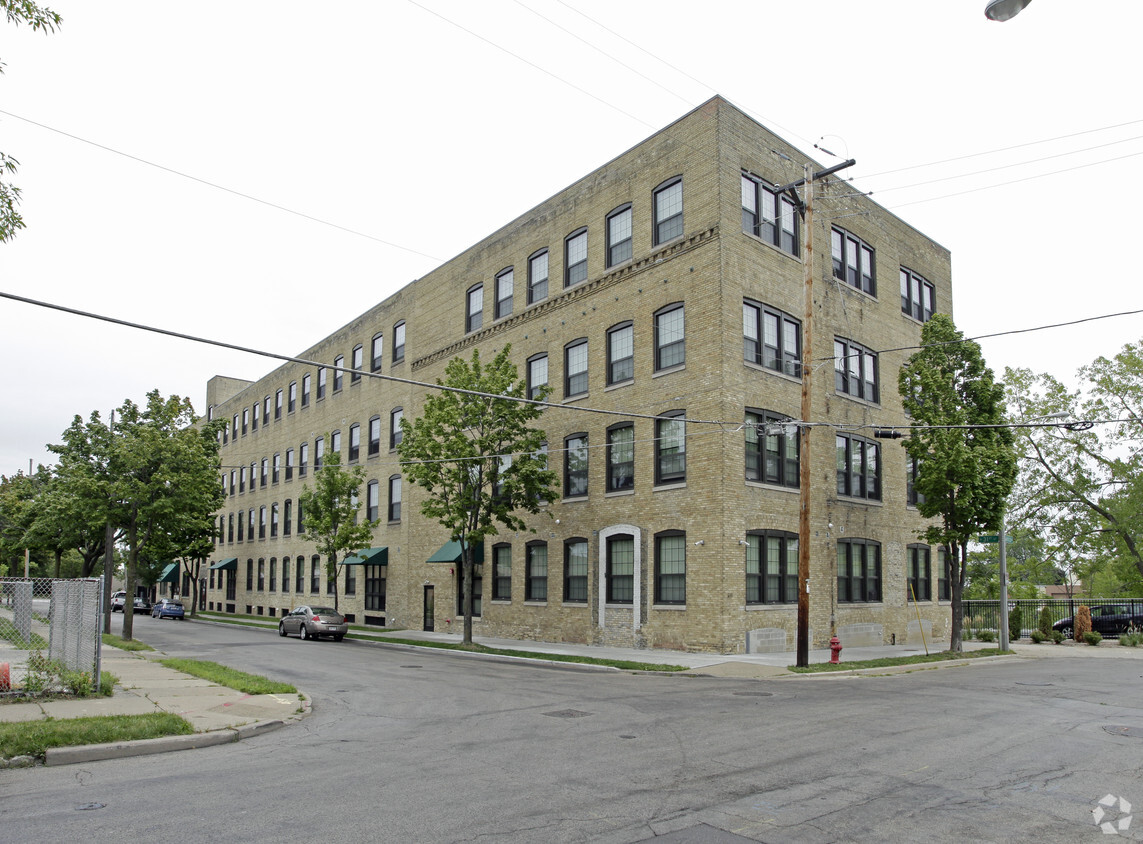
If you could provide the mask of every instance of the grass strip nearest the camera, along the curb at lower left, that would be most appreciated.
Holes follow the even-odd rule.
[[[0,724],[0,757],[42,756],[53,747],[105,745],[163,735],[190,735],[193,732],[190,723],[170,712],[25,720]]]

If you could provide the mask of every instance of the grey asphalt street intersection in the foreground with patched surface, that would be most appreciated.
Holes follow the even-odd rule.
[[[1111,839],[1105,796],[1143,812],[1141,660],[748,680],[136,622],[171,656],[294,683],[313,714],[0,771],[0,839],[1074,842]]]

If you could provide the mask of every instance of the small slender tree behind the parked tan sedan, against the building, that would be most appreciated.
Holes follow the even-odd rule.
[[[328,439],[328,438],[327,438]],[[365,468],[342,468],[342,455],[331,452],[309,486],[297,496],[305,513],[305,532],[318,554],[326,557],[326,580],[334,584],[334,610],[338,610],[337,580],[345,564],[345,555],[368,548],[377,519],[361,520],[359,493],[365,480]]]

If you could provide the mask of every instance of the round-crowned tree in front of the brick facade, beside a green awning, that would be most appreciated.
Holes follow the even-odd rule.
[[[415,422],[401,420],[398,454],[409,480],[425,492],[421,512],[461,546],[466,644],[472,643],[472,549],[496,535],[497,525],[529,530],[518,513],[537,513],[557,494],[544,432],[529,427],[543,408],[526,400],[511,349],[505,345],[488,364],[479,350],[471,361],[453,358],[445,380],[437,381],[447,389],[425,399]]]

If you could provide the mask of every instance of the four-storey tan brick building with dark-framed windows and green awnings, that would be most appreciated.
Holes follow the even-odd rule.
[[[904,451],[872,431],[906,424],[897,369],[924,321],[952,312],[950,254],[840,177],[815,183],[807,231],[776,190],[806,162],[822,167],[714,97],[297,361],[211,379],[226,499],[208,607],[330,603],[297,500],[337,452],[366,468],[362,515],[379,518],[342,570],[343,611],[459,630],[457,549],[402,477],[399,420],[453,357],[511,344],[529,388],[551,388],[560,495],[477,549],[478,637],[792,650],[802,367],[814,645],[902,642],[918,616],[946,635],[943,556],[917,539]]]

